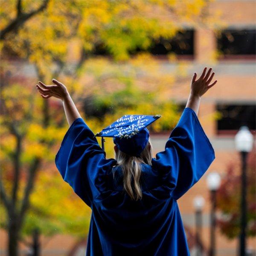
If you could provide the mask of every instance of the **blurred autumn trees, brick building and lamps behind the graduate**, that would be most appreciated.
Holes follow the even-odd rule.
[[[68,123],[38,81],[65,84],[94,133],[127,113],[161,114],[155,155],[204,67],[218,82],[198,119],[216,158],[178,200],[189,249],[256,255],[254,0],[1,0],[0,21],[0,255],[86,251],[91,209],[54,161]],[[113,157],[113,140],[105,150]]]

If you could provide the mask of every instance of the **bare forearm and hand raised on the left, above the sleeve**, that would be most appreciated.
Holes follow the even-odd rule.
[[[62,100],[67,122],[70,126],[77,118],[81,118],[81,116],[68,93],[67,87],[56,79],[52,79],[52,82],[54,84],[46,85],[39,81],[38,83],[41,86],[36,84],[36,87],[44,99],[48,99],[53,96]]]

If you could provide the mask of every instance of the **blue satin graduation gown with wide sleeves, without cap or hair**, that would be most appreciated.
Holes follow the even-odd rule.
[[[142,165],[141,201],[123,192],[122,170],[93,136],[76,119],[55,157],[63,179],[92,210],[86,256],[189,255],[177,200],[215,159],[195,111],[184,109],[165,150]]]

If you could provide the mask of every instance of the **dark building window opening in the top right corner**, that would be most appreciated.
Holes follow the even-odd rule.
[[[256,29],[226,29],[216,37],[220,58],[255,58]]]

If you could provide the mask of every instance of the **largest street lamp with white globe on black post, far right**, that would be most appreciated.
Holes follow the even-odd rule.
[[[246,225],[247,225],[247,204],[246,204],[246,163],[247,154],[253,148],[253,135],[247,126],[241,126],[235,136],[236,150],[241,154],[241,231],[240,231],[240,256],[245,256],[246,251]]]

